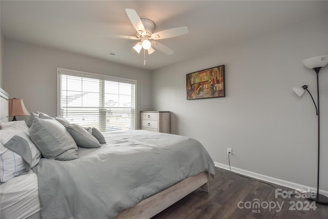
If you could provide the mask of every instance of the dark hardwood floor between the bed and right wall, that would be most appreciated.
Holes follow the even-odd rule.
[[[276,191],[272,186],[228,170],[216,167],[215,178],[214,180],[211,178],[209,182],[209,193],[197,189],[152,219],[328,218],[328,206],[309,205],[312,203],[311,201],[299,196],[283,198],[278,194],[276,198]],[[279,185],[273,186],[294,194],[293,189]],[[257,208],[256,202],[260,204],[259,208]],[[253,206],[253,204],[255,205]]]

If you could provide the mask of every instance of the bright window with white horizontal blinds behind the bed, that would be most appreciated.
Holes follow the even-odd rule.
[[[135,129],[136,81],[57,69],[58,114],[101,132]]]

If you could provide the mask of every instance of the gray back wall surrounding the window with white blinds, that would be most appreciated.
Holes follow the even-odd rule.
[[[28,111],[56,116],[57,67],[135,79],[137,118],[139,111],[151,106],[151,73],[146,70],[11,39],[5,42],[4,62],[4,89],[11,98],[23,98]],[[139,122],[138,118],[137,127]]]

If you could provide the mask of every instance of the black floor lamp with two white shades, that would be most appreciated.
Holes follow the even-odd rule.
[[[318,204],[322,204],[322,205],[328,205],[328,197],[322,195],[319,193],[319,168],[320,168],[320,105],[319,105],[319,71],[322,67],[326,66],[328,64],[328,55],[321,55],[321,56],[316,56],[316,57],[312,57],[312,58],[308,58],[305,59],[303,61],[303,65],[306,68],[310,68],[313,69],[316,72],[317,75],[317,105],[310,93],[310,91],[308,90],[308,86],[307,85],[303,85],[302,87],[296,87],[293,88],[293,91],[300,97],[301,95],[303,95],[304,91],[308,91],[312,101],[314,103],[314,106],[316,107],[316,111],[317,111],[317,116],[318,116],[318,168],[317,168],[317,192],[313,193],[313,192],[308,192],[306,194],[306,197],[309,198],[310,200],[316,201],[316,203]],[[318,108],[317,108],[318,107]]]

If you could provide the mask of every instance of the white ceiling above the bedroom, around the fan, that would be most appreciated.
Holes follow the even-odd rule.
[[[159,42],[175,52],[131,50],[136,34],[125,8],[155,22],[155,32],[188,26],[189,34]],[[327,14],[327,1],[1,1],[6,38],[155,70],[222,46]],[[122,57],[109,55],[109,52]]]

